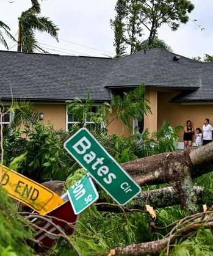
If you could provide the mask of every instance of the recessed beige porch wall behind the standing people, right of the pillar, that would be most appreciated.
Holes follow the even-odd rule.
[[[161,127],[162,122],[167,120],[171,126],[186,125],[187,120],[191,120],[193,127],[200,127],[202,130],[203,121],[209,118],[213,124],[213,104],[180,104],[169,103],[171,98],[175,97],[178,92],[158,92],[157,95],[157,128]],[[180,140],[182,141],[180,133]],[[193,138],[194,141],[194,138]]]

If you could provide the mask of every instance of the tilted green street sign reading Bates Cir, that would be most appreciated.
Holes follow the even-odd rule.
[[[64,143],[65,149],[92,178],[120,205],[125,205],[140,192],[140,186],[85,128]]]

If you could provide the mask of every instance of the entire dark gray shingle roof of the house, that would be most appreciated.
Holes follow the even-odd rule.
[[[87,93],[110,100],[117,87],[184,90],[173,101],[213,101],[213,63],[201,63],[162,49],[120,59],[0,51],[0,100],[65,101]]]

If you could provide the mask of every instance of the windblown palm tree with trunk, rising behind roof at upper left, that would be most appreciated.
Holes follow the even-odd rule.
[[[49,18],[38,16],[40,5],[37,0],[31,0],[32,7],[21,13],[18,18],[18,48],[17,51],[32,53],[39,48],[35,38],[35,30],[47,32],[57,38],[59,28]]]

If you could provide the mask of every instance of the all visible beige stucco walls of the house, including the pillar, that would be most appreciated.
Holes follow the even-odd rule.
[[[171,98],[178,95],[179,92],[156,92],[147,90],[145,98],[150,101],[152,114],[145,115],[144,125],[148,128],[150,134],[157,131],[164,120],[167,120],[171,126],[186,125],[186,120],[191,120],[194,128],[202,128],[203,120],[209,118],[213,124],[213,103],[208,104],[180,104],[169,103]],[[65,104],[54,103],[34,103],[38,112],[43,112],[44,123],[52,123],[56,129],[66,129],[66,106]],[[109,122],[115,117],[115,111],[109,115]],[[132,121],[131,121],[132,122]],[[129,136],[128,128],[122,124],[121,120],[114,119],[107,126],[109,134],[124,134]],[[182,132],[179,134],[182,141]]]

